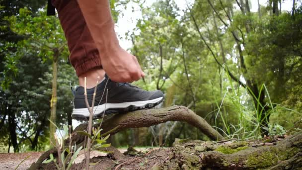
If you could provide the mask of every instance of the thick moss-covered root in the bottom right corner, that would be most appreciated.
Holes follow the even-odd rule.
[[[233,154],[222,150],[207,152],[202,156],[203,167],[217,169],[302,169],[302,132],[290,136],[277,145],[240,147]]]

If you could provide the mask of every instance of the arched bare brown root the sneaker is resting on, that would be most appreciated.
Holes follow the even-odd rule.
[[[223,136],[211,127],[202,117],[198,116],[192,110],[184,106],[171,106],[160,109],[147,109],[128,112],[125,114],[118,114],[102,123],[102,133],[110,133],[111,135],[127,129],[138,127],[150,127],[152,125],[164,123],[167,121],[183,121],[192,126],[197,127],[201,132],[207,135],[212,140],[221,140]],[[99,127],[100,124],[94,124],[94,127]],[[87,123],[77,126],[72,134],[72,144],[81,146],[84,143],[84,135],[76,133],[78,131],[87,130]],[[69,145],[69,139],[65,141],[66,146]],[[55,148],[45,152],[36,163],[34,163],[30,170],[36,170],[41,167],[42,162],[49,157],[50,154],[56,155]]]

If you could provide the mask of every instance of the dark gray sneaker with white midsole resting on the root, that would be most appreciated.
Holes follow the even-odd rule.
[[[105,88],[108,89],[107,104],[105,103]],[[94,87],[87,89],[87,99],[90,106],[92,104],[93,91]],[[104,96],[102,98],[103,92]],[[84,87],[76,87],[73,93],[75,99],[72,117],[77,120],[89,119],[89,111],[84,98]],[[109,114],[151,108],[161,103],[162,100],[163,93],[160,90],[146,91],[128,83],[114,82],[105,75],[105,79],[96,87],[93,119],[102,118],[104,111],[105,114]]]

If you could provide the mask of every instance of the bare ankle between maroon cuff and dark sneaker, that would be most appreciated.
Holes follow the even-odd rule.
[[[92,88],[96,85],[96,82],[101,82],[104,79],[105,71],[103,69],[93,69],[89,70],[88,72],[82,74],[78,77],[79,85],[84,86],[84,80],[85,77],[87,79],[86,81],[86,87]]]

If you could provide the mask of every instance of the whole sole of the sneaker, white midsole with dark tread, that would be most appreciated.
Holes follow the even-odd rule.
[[[152,100],[146,101],[132,101],[132,102],[124,102],[124,103],[107,103],[101,104],[93,107],[93,117],[92,119],[99,119],[103,117],[103,113],[105,110],[106,114],[111,113],[124,113],[129,111],[135,111],[145,108],[151,108],[162,102],[163,97],[155,98]],[[72,113],[72,118],[76,120],[88,120],[89,119],[89,111],[87,108],[74,108]]]

